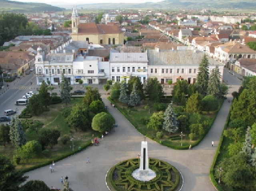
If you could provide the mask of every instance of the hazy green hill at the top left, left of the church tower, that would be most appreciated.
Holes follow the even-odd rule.
[[[43,11],[62,11],[63,8],[51,6],[45,3],[23,3],[18,1],[0,0],[0,12],[14,13],[42,13]]]

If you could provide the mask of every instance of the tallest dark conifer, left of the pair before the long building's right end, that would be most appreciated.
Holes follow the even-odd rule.
[[[196,78],[196,90],[201,95],[205,96],[207,93],[208,88],[208,81],[209,81],[209,61],[206,55],[201,59],[201,62],[198,67],[198,74]]]

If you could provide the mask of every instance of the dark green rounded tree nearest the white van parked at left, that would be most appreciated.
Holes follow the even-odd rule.
[[[32,115],[39,115],[44,112],[44,105],[42,104],[41,96],[33,95],[29,98],[28,105],[26,107],[26,113]]]

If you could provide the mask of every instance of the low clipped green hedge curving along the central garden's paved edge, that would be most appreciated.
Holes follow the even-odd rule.
[[[114,100],[112,100],[110,97],[108,97],[108,100],[109,100],[112,104],[114,104],[115,107],[123,114],[123,116],[132,124],[132,126],[134,126],[134,128],[136,128],[136,130],[142,134],[142,132],[140,131],[140,129],[138,129],[138,126],[133,122],[133,120],[130,118],[130,116],[128,116],[128,115],[116,104],[116,102],[114,102]],[[200,136],[200,137],[198,138],[198,140],[196,140],[196,142],[194,142],[194,143],[192,144],[192,147],[197,146],[197,145],[203,140],[203,138],[206,136],[206,134],[209,132],[209,130],[210,130],[210,128],[212,127],[212,124],[213,124],[213,122],[214,122],[216,116],[218,115],[218,112],[219,112],[219,110],[220,110],[220,108],[221,108],[223,102],[224,102],[224,99],[221,99],[221,104],[220,104],[218,110],[214,113],[214,116],[212,117],[212,119],[210,120],[209,126],[208,126],[208,128],[206,129],[205,133],[204,133],[202,136]],[[167,147],[172,148],[172,149],[175,149],[175,150],[187,150],[187,149],[189,148],[189,146],[173,146],[173,145],[171,145],[171,144],[170,144],[169,142],[167,142],[167,141],[162,141],[162,140],[153,138],[152,136],[150,136],[150,135],[148,135],[148,134],[146,134],[146,135],[144,135],[144,136],[146,136],[147,138],[149,138],[149,139],[151,139],[151,140],[154,140],[155,142],[158,142],[159,144],[162,144],[162,145],[164,145],[164,146],[167,146]]]

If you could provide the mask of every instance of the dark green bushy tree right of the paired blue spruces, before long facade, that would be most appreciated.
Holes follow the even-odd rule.
[[[161,98],[164,95],[163,87],[158,82],[157,78],[148,78],[145,86],[146,94],[149,97],[149,100],[154,101],[155,103],[160,103]]]

